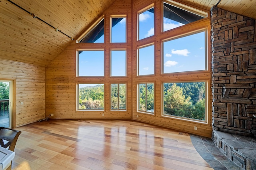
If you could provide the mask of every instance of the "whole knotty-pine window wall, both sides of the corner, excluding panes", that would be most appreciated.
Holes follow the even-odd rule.
[[[133,3],[133,4],[132,4]],[[155,36],[147,38],[140,42],[136,42],[136,22],[137,12],[142,8],[154,3],[155,4]],[[210,55],[210,36],[208,37],[208,71],[198,72],[192,77],[187,73],[175,75],[161,75],[161,42],[163,39],[175,36],[175,34],[185,34],[194,31],[198,28],[206,28],[210,32],[210,18],[200,20],[197,24],[188,24],[186,29],[180,31],[161,33],[162,14],[160,9],[162,1],[158,0],[116,0],[104,12],[105,22],[105,43],[97,45],[94,43],[75,43],[73,42],[66,48],[58,57],[56,57],[48,67],[46,67],[46,116],[50,113],[54,114],[53,119],[133,119],[154,125],[160,125],[167,128],[178,129],[180,131],[191,132],[202,136],[211,136],[211,102],[212,96],[210,93],[211,83],[211,55]],[[127,23],[127,43],[110,43],[110,15],[111,14],[126,14]],[[155,43],[155,63],[156,74],[154,76],[137,77],[136,72],[136,55],[137,47],[147,43]],[[76,77],[76,50],[77,49],[96,49],[105,48],[105,77]],[[109,76],[109,51],[111,48],[126,48],[127,49],[127,77],[117,78]],[[190,77],[190,79],[188,79]],[[184,121],[180,119],[162,117],[161,103],[161,84],[162,81],[192,81],[206,80],[209,84],[208,88],[208,123],[196,123],[192,121]],[[149,115],[137,112],[137,83],[139,82],[154,82],[155,83],[155,114]],[[127,83],[127,111],[113,112],[110,111],[110,83]],[[76,111],[76,84],[77,83],[104,83],[105,84],[105,110],[104,111]],[[104,113],[104,116],[102,116]],[[138,116],[138,117],[137,117]],[[197,130],[194,130],[197,126]]]

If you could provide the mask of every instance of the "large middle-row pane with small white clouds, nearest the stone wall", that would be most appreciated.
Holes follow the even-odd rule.
[[[163,42],[163,73],[206,69],[205,32]]]

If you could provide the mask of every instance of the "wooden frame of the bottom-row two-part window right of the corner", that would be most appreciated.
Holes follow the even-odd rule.
[[[140,108],[140,84],[145,84],[145,90],[146,90],[146,92],[145,92],[145,95],[146,95],[146,99],[145,99],[145,104],[146,104],[146,111],[141,111],[139,108]],[[148,89],[147,89],[147,84],[154,84],[154,112],[148,112],[148,103],[147,103],[147,91],[148,91]],[[137,83],[137,100],[138,100],[138,102],[137,102],[137,112],[138,113],[145,113],[145,114],[149,114],[149,115],[155,115],[155,113],[156,113],[156,109],[155,109],[155,105],[156,105],[156,83],[155,82],[139,82],[139,83]]]

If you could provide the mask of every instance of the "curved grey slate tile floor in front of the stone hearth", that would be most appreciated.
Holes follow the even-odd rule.
[[[243,170],[223,154],[211,138],[192,134],[190,138],[196,151],[214,170]]]

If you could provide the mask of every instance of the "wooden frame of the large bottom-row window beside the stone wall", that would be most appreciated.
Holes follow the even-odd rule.
[[[204,82],[205,83],[205,111],[204,111],[204,120],[198,120],[198,119],[192,119],[192,118],[188,118],[188,117],[179,117],[179,116],[175,116],[175,115],[166,115],[164,114],[164,83],[201,83],[201,82]],[[176,119],[176,120],[182,120],[182,121],[188,121],[188,122],[193,122],[193,123],[200,123],[200,124],[206,124],[208,125],[209,123],[209,120],[208,120],[208,117],[209,117],[209,101],[210,99],[208,99],[209,97],[209,83],[210,83],[210,80],[197,80],[197,81],[162,81],[161,82],[161,86],[162,86],[162,99],[161,99],[161,117],[164,117],[164,118],[169,118],[169,119]]]

